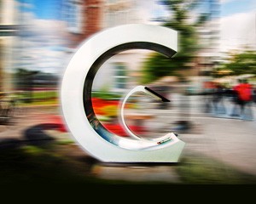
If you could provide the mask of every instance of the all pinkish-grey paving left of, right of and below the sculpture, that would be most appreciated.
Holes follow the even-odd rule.
[[[179,133],[179,139],[186,143],[181,158],[203,155],[227,164],[242,173],[256,176],[256,121],[242,121],[241,119],[207,115],[199,112],[195,107],[192,107],[191,110],[194,111],[191,111],[189,115],[181,115],[176,112],[177,110],[151,110],[159,122],[158,130],[163,133],[170,131],[173,122],[177,118],[181,119],[181,116],[191,122],[192,127],[188,132]],[[34,107],[21,111],[22,114],[17,117],[14,124],[0,126],[0,139],[22,139],[27,128],[47,122],[49,116],[60,115],[58,107]],[[175,115],[175,112],[178,115]],[[168,129],[169,127],[171,128]],[[49,133],[52,133],[53,137],[64,134],[65,137],[73,139],[69,133]],[[86,155],[79,148],[77,154]],[[128,181],[166,181],[177,184],[182,181],[175,169],[176,167],[168,165],[123,166],[97,163],[92,167],[91,173],[99,178]]]

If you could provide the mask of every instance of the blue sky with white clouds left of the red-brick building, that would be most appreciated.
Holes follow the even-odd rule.
[[[32,24],[29,31],[21,32],[18,49],[22,65],[28,70],[60,74],[67,66],[65,23],[61,20],[61,1],[65,0],[16,0],[22,11],[22,24]]]

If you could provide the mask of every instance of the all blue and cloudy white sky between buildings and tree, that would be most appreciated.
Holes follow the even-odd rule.
[[[65,47],[65,38],[61,31],[65,23],[61,20],[61,3],[66,0],[16,0],[20,3],[24,16],[33,19],[32,33],[26,33],[27,44],[35,50],[41,50],[40,58],[37,52],[30,53],[38,62],[38,67],[47,67],[48,71],[56,71],[63,66],[55,59],[63,58],[61,48]],[[251,46],[256,50],[256,1],[255,0],[217,0],[220,3],[219,19],[219,52]],[[150,20],[170,15],[164,5],[158,0],[137,0],[138,14],[145,23]],[[30,18],[29,18],[30,17]],[[32,18],[31,18],[32,17]],[[26,21],[26,20],[25,20]],[[40,39],[39,41],[36,39]],[[31,43],[34,42],[34,43]],[[27,51],[28,52],[28,51]],[[45,57],[49,61],[45,62]],[[51,66],[49,66],[51,65]]]

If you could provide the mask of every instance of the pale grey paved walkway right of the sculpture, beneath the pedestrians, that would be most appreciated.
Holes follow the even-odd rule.
[[[200,96],[189,98],[188,113],[180,114],[178,110],[158,111],[159,120],[168,122],[177,118],[188,120],[192,128],[186,133],[180,133],[186,146],[184,151],[197,152],[223,161],[241,172],[256,175],[256,106],[251,111],[254,118],[241,120],[230,117],[233,105],[229,99],[224,101],[225,114],[203,113],[204,101]],[[184,110],[184,111],[186,111]]]

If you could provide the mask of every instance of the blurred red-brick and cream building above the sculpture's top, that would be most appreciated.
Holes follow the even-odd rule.
[[[71,48],[102,29],[138,23],[135,0],[67,0],[61,10]]]

